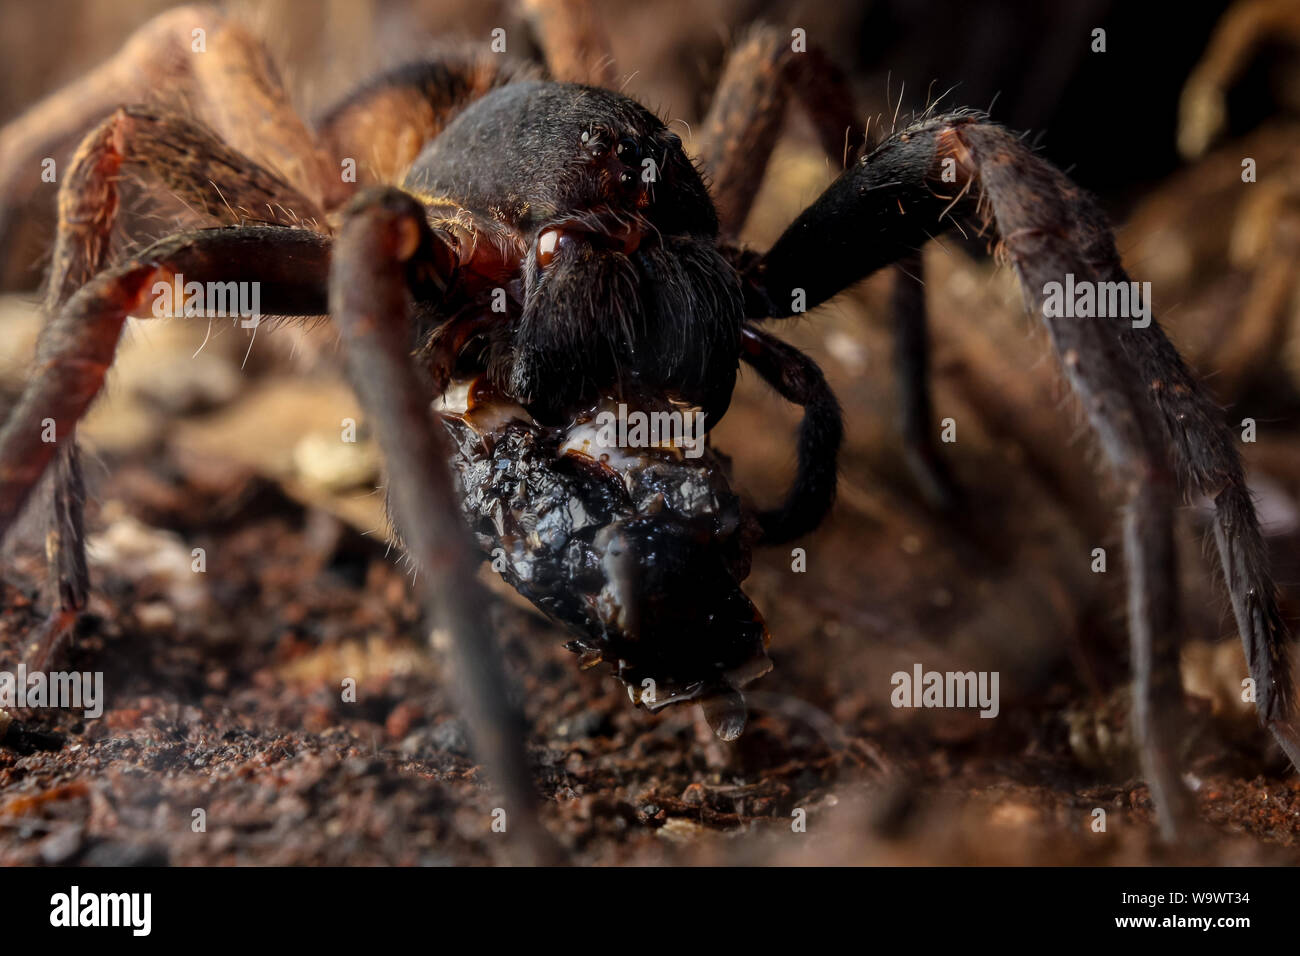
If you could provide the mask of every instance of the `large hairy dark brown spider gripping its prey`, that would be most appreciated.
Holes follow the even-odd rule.
[[[611,397],[649,395],[651,405],[702,410],[715,424],[744,363],[803,407],[793,488],[780,507],[750,519],[758,542],[794,538],[831,507],[842,429],[818,367],[764,326],[881,268],[915,269],[922,245],[965,221],[997,237],[1126,494],[1135,718],[1164,834],[1176,835],[1191,813],[1173,758],[1179,496],[1214,501],[1258,711],[1300,763],[1288,635],[1221,410],[1157,323],[1071,319],[1044,307],[1050,284],[1066,276],[1128,281],[1093,199],[983,113],[931,111],[868,146],[842,74],[815,47],[762,27],[729,55],[693,160],[654,113],[610,88],[603,35],[582,4],[529,7],[545,75],[500,57],[445,56],[385,73],[312,125],[292,113],[250,34],[214,10],[181,8],[0,133],[0,183],[12,186],[16,169],[38,165],[53,143],[90,127],[60,185],[36,365],[0,432],[0,535],[38,480],[53,473],[47,553],[56,606],[30,648],[36,666],[55,654],[86,600],[75,427],[104,382],[124,321],[148,313],[159,280],[255,282],[266,315],[337,323],[386,460],[395,528],[471,691],[464,708],[478,756],[517,812],[523,845],[546,847],[530,812],[520,718],[480,613],[478,555],[464,520],[464,496],[482,498],[491,484],[481,473],[467,477],[481,462],[464,444],[490,437],[495,454],[508,441],[572,437]],[[196,30],[203,52],[191,52]],[[172,92],[139,105],[144,85],[161,79]],[[836,161],[846,142],[863,147],[770,250],[746,250],[732,237],[789,101],[809,112]],[[355,183],[339,174],[350,163]],[[125,172],[170,190],[211,228],[110,261]],[[904,286],[894,306],[905,445],[931,496],[952,501],[928,437],[919,286]],[[523,431],[476,427],[473,395],[459,410],[469,418],[439,425],[430,403],[452,385],[478,390],[478,408],[517,410]],[[51,423],[55,440],[43,440]],[[448,440],[448,428],[460,442]],[[458,444],[463,488],[448,468]],[[507,449],[498,464],[524,460],[545,483],[559,480],[559,467],[538,464],[540,453],[525,445]],[[692,467],[690,480],[719,489],[723,503],[710,514],[724,512],[723,466],[707,458]],[[577,483],[568,497],[590,494],[597,483],[581,473],[566,480]],[[645,520],[651,531],[642,545],[667,527],[653,514]],[[677,548],[689,536],[668,537]],[[633,541],[619,554],[633,576],[656,572],[653,546]],[[560,601],[568,585],[555,587],[534,600]],[[732,718],[720,715],[723,736],[736,731]]]

